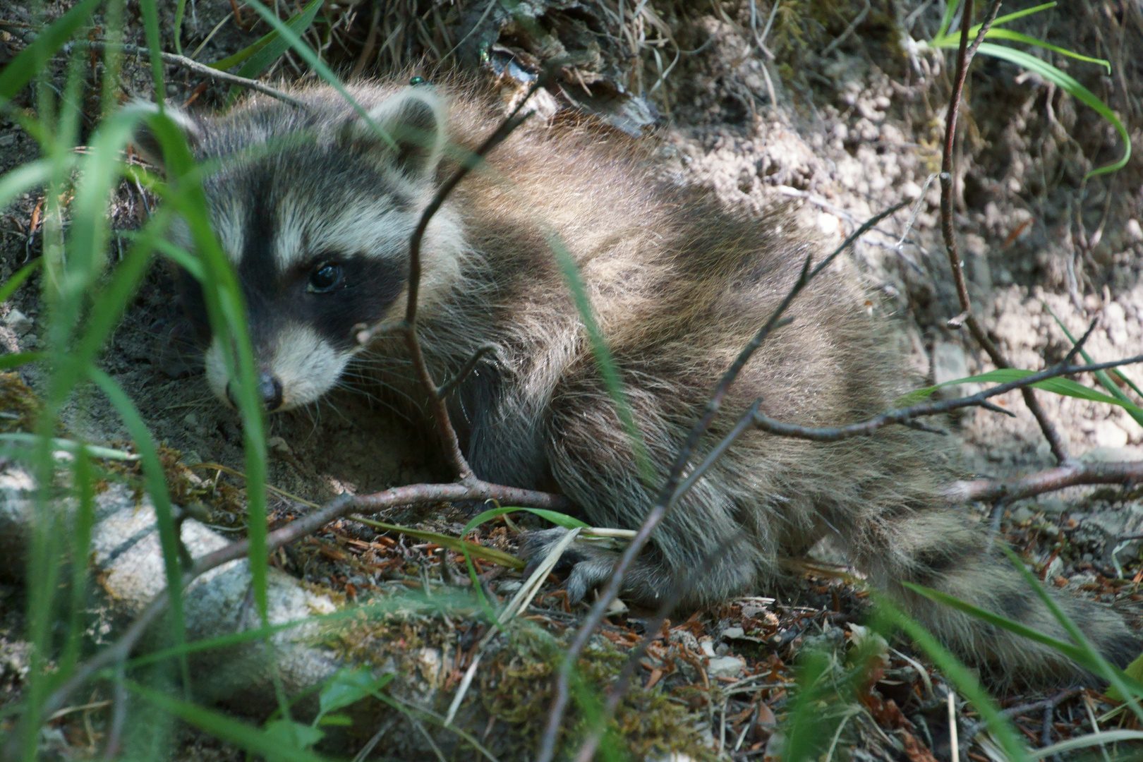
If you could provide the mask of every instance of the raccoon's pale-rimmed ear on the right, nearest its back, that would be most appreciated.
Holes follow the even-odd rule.
[[[424,86],[407,87],[370,109],[369,118],[384,135],[376,135],[363,119],[355,120],[354,133],[374,136],[382,149],[394,151],[402,173],[423,179],[437,171],[448,137],[448,106],[440,96]]]

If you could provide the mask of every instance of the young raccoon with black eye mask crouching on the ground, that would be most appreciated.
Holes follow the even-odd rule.
[[[205,181],[209,210],[246,296],[271,410],[313,402],[352,362],[421,394],[403,343],[383,336],[366,351],[354,327],[403,314],[409,236],[456,166],[449,146],[471,150],[502,112],[467,85],[373,83],[351,94],[391,139],[323,87],[295,91],[302,107],[255,96],[225,115],[178,117],[197,158],[217,162]],[[448,399],[462,448],[481,479],[558,490],[592,524],[636,528],[717,379],[816,248],[781,212],[727,211],[662,179],[634,141],[590,125],[526,123],[488,162],[448,198],[422,246],[419,336],[434,377],[495,346]],[[190,247],[185,230],[175,236]],[[598,371],[552,252],[557,236],[614,354],[653,479],[640,475]],[[865,305],[841,268],[813,281],[786,313],[793,322],[738,377],[706,447],[759,396],[768,416],[806,426],[890,408],[908,372],[892,330]],[[207,377],[226,400],[233,382],[223,360],[211,343]],[[935,439],[900,426],[837,443],[745,433],[668,512],[625,596],[654,605],[709,556],[713,570],[694,580],[684,605],[753,592],[778,578],[783,558],[831,536],[874,584],[998,679],[1082,676],[1056,651],[901,585],[935,587],[1068,640],[966,510],[941,497],[952,471]],[[561,531],[533,535],[531,552]],[[570,558],[573,599],[616,561],[576,546]],[[1061,604],[1113,663],[1137,653],[1110,610]]]

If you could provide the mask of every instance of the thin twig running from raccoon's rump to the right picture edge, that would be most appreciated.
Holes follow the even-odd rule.
[[[1047,370],[1041,370],[1037,374],[1025,376],[1024,378],[1018,378],[1005,384],[998,384],[992,388],[977,392],[976,394],[961,396],[954,400],[944,400],[942,402],[922,402],[908,408],[887,410],[880,415],[873,416],[872,418],[861,423],[850,424],[848,426],[798,426],[796,424],[784,424],[782,422],[774,420],[761,412],[754,414],[754,425],[765,432],[776,434],[778,436],[807,439],[814,442],[837,442],[853,436],[869,436],[879,428],[884,428],[892,424],[903,424],[913,418],[935,416],[950,410],[959,410],[960,408],[976,407],[988,398],[1005,394],[1006,392],[1010,392],[1013,390],[1023,391],[1032,384],[1047,380],[1049,378],[1095,372],[1097,370],[1106,370],[1108,368],[1128,366],[1136,362],[1143,362],[1143,354],[1137,354],[1134,358],[1127,358],[1126,360],[1113,360],[1111,362],[1100,362],[1090,366],[1054,366]]]

